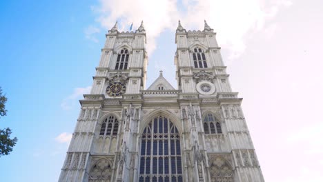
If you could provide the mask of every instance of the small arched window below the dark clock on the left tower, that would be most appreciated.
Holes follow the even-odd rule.
[[[100,135],[103,136],[117,136],[119,129],[119,122],[116,117],[107,117],[101,125]]]

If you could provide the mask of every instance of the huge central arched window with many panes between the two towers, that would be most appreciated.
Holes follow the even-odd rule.
[[[166,117],[155,117],[141,136],[139,182],[182,182],[179,132]]]

